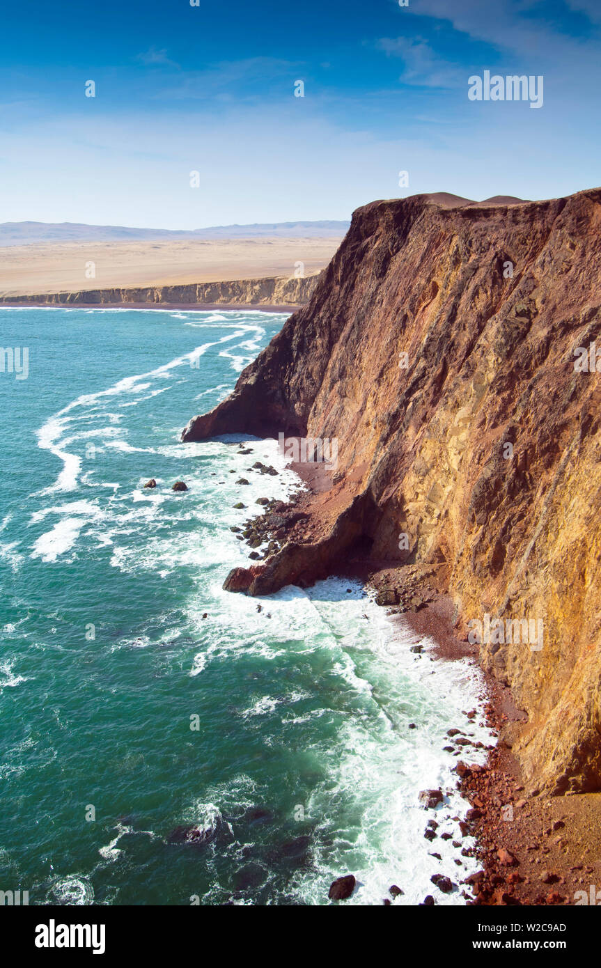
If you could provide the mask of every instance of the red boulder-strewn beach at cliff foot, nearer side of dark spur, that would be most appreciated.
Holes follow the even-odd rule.
[[[526,713],[511,690],[482,668],[477,647],[456,633],[453,614],[451,598],[441,593],[405,618],[416,634],[436,641],[438,660],[467,657],[477,665],[486,686],[486,723],[499,737]],[[528,797],[519,763],[501,737],[489,748],[484,767],[466,767],[460,759],[456,772],[458,788],[472,805],[469,827],[482,865],[466,880],[474,892],[467,904],[573,905],[578,892],[589,896],[591,885],[601,880],[600,794]],[[581,903],[589,901],[581,896]]]

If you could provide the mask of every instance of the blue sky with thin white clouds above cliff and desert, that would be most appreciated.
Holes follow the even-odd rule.
[[[543,106],[469,101],[485,70],[544,76]],[[3,14],[0,222],[197,228],[346,219],[419,192],[556,197],[601,183],[600,90],[601,0],[19,0]]]

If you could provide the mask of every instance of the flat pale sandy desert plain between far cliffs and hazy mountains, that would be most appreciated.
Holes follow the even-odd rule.
[[[0,249],[0,295],[303,275],[328,264],[340,239],[256,238],[211,241],[68,242]],[[86,263],[95,276],[86,277]]]

